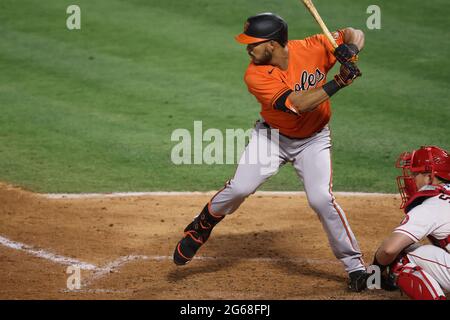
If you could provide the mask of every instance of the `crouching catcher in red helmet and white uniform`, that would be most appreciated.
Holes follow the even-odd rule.
[[[403,153],[398,167],[406,216],[375,254],[374,264],[384,273],[382,287],[398,287],[412,299],[445,299],[444,291],[450,292],[449,153],[421,147]],[[425,237],[431,244],[418,245]]]

